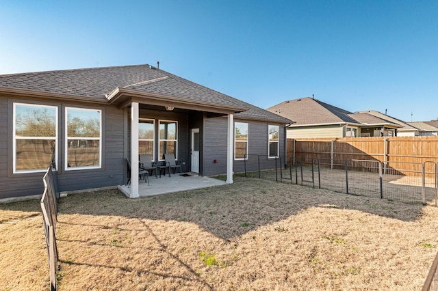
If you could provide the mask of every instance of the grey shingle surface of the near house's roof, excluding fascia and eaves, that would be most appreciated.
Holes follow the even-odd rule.
[[[55,70],[0,75],[1,88],[23,89],[32,92],[67,94],[105,99],[117,87],[138,92],[164,94],[199,102],[246,107],[247,111],[236,113],[236,117],[269,120],[287,124],[290,120],[213,89],[209,89],[148,64]]]

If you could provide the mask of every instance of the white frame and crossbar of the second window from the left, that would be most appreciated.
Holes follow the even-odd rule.
[[[99,165],[98,166],[90,166],[90,167],[68,167],[68,115],[67,110],[68,109],[79,109],[83,111],[99,111]],[[64,124],[64,131],[65,131],[65,141],[64,141],[64,170],[65,171],[76,171],[76,170],[84,170],[84,169],[101,169],[102,168],[102,110],[101,109],[91,109],[91,108],[82,108],[82,107],[65,107],[64,109],[65,113],[65,124]],[[96,140],[96,137],[70,137],[70,139],[76,139],[76,140]]]

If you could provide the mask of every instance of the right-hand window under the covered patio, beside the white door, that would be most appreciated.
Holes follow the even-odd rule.
[[[178,152],[178,122],[159,121],[159,158],[164,161],[164,154],[175,154]]]

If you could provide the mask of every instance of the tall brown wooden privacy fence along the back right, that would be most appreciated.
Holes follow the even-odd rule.
[[[287,157],[367,160],[384,163],[438,162],[438,137],[345,137],[287,139]],[[420,176],[415,169],[400,169],[404,175]],[[426,168],[426,176],[432,169]]]

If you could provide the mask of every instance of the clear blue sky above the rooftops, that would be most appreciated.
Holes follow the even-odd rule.
[[[0,74],[160,62],[268,108],[438,119],[438,1],[0,1]]]

